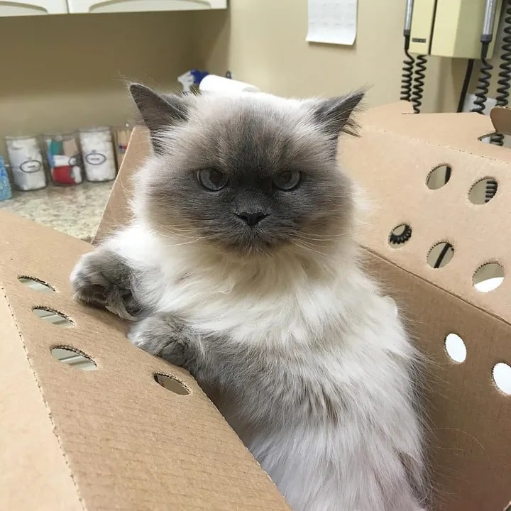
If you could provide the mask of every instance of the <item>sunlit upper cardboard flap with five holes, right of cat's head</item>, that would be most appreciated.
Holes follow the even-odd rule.
[[[370,112],[360,138],[344,138],[340,158],[344,169],[365,189],[373,212],[357,232],[364,246],[402,268],[434,282],[476,307],[511,322],[511,279],[498,289],[479,292],[473,275],[486,263],[511,269],[511,151],[478,141],[490,128],[479,114],[397,115],[371,120]],[[436,167],[449,165],[446,185],[429,189],[427,180]],[[488,204],[469,199],[476,183],[491,178],[498,191]],[[410,241],[388,243],[400,224],[412,229]],[[429,251],[447,241],[454,257],[444,268],[427,263]]]

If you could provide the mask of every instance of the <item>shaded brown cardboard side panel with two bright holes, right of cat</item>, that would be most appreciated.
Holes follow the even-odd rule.
[[[427,357],[421,396],[434,500],[427,509],[502,509],[511,497],[511,395],[498,390],[492,370],[511,362],[511,326],[378,255],[366,262]],[[466,347],[463,363],[446,350],[452,334]]]

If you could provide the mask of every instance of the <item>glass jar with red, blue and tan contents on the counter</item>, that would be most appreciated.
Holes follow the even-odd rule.
[[[79,185],[82,177],[82,157],[77,133],[43,135],[50,175],[55,185]]]

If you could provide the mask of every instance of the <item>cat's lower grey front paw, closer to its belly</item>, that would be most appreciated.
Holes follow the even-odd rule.
[[[189,334],[172,314],[155,314],[133,325],[128,339],[138,348],[187,370],[194,363]]]

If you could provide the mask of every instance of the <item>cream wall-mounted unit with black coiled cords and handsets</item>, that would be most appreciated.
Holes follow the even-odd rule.
[[[511,77],[511,0],[505,1],[505,37],[502,41],[497,104],[507,105]],[[467,59],[458,111],[468,91],[474,60],[480,60],[478,89],[473,111],[482,114],[490,87],[488,59],[493,55],[495,37],[502,10],[502,0],[407,0],[405,11],[405,55],[401,99],[412,101],[420,111],[427,55]],[[412,54],[415,54],[414,57]],[[493,143],[502,145],[502,137]]]

